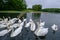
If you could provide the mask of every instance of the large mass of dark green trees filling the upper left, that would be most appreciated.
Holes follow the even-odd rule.
[[[26,7],[25,0],[0,0],[0,10],[24,10]]]

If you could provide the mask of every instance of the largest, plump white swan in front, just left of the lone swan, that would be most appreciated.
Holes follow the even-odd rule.
[[[38,28],[35,30],[34,34],[36,36],[45,36],[48,33],[48,28],[44,28],[38,24]]]

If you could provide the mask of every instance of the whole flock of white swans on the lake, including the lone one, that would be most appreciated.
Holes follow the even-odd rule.
[[[37,23],[37,29],[36,24],[34,21],[30,18],[29,22],[27,22],[27,19],[23,19],[23,21],[19,18],[12,18],[9,19],[5,18],[4,20],[0,21],[0,29],[5,28],[4,30],[0,31],[0,36],[4,36],[7,33],[11,32],[10,37],[15,37],[19,35],[22,32],[23,25],[25,24],[25,28],[30,27],[30,30],[34,33],[34,35],[40,37],[40,36],[46,36],[48,34],[48,28],[45,28],[45,22],[36,22]],[[14,28],[17,28],[14,30]],[[56,24],[51,26],[53,31],[58,30],[58,26]]]

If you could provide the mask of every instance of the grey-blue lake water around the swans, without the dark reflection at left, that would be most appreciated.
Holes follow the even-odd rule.
[[[15,14],[16,15],[16,14]],[[0,40],[60,40],[60,13],[26,13],[23,15],[29,21],[30,18],[34,20],[34,22],[39,22],[40,19],[45,21],[46,24],[44,27],[49,28],[49,32],[44,39],[36,39],[35,36],[31,31],[26,31],[23,28],[21,34],[16,37],[11,38],[10,33],[6,34],[5,36],[0,37]],[[8,16],[7,16],[8,17]],[[22,18],[22,17],[21,17]],[[52,32],[51,26],[53,24],[58,25],[59,30],[55,33]]]

